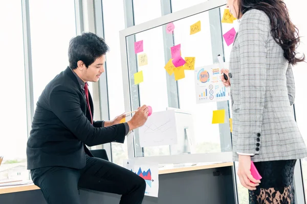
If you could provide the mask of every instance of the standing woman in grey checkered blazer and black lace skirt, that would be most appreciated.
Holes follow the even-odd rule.
[[[230,55],[233,156],[250,203],[295,203],[293,174],[307,149],[294,119],[291,65],[298,57],[298,31],[281,0],[228,0],[240,20]],[[230,78],[229,78],[230,77]],[[262,176],[253,178],[251,160]]]

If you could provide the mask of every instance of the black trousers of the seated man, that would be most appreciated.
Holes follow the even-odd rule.
[[[81,204],[78,187],[122,195],[120,204],[140,204],[146,188],[137,174],[89,156],[83,169],[42,167],[31,170],[31,176],[48,204]]]

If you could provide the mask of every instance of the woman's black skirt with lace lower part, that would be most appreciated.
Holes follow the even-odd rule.
[[[262,176],[256,190],[249,191],[250,204],[295,204],[293,176],[296,160],[255,162]]]

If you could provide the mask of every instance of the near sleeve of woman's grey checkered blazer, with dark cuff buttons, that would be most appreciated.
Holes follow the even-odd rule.
[[[255,133],[261,133],[266,94],[267,41],[270,34],[268,16],[257,10],[245,13],[239,25],[240,112],[237,152],[255,151]]]

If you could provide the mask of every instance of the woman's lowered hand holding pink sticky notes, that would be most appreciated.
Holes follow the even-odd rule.
[[[239,155],[238,176],[242,186],[249,190],[256,190],[259,186],[260,181],[251,174],[251,156]]]

